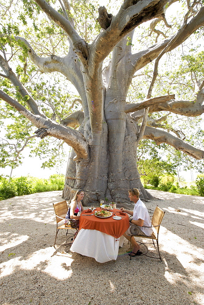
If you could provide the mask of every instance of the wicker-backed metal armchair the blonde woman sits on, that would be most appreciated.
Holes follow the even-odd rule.
[[[54,246],[55,245],[59,245],[59,246],[64,245],[64,244],[57,244],[56,243],[57,233],[59,232],[60,229],[66,229],[67,230],[66,236],[67,236],[67,234],[69,235],[68,239],[71,239],[71,242],[69,242],[69,243],[72,243],[74,241],[76,235],[78,234],[78,223],[77,223],[77,221],[75,219],[71,219],[70,220],[70,228],[65,227],[64,223],[61,224],[60,226],[58,226],[58,223],[60,221],[67,220],[67,219],[65,219],[65,216],[66,216],[67,211],[68,211],[68,206],[67,206],[66,200],[58,202],[58,203],[53,203],[53,207],[54,207],[55,215],[56,215],[56,236],[55,236]],[[76,232],[75,233],[73,233],[73,232],[68,233],[68,230],[70,230],[70,229],[75,229]],[[67,243],[67,241],[66,241],[66,244],[69,244],[69,243]]]

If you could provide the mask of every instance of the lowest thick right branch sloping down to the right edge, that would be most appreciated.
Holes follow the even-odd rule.
[[[157,145],[159,145],[161,143],[169,144],[169,145],[173,146],[175,149],[181,150],[185,154],[187,154],[197,160],[204,159],[203,150],[195,148],[195,147],[185,143],[183,140],[169,134],[166,131],[155,129],[152,127],[146,127],[143,138],[154,140]]]

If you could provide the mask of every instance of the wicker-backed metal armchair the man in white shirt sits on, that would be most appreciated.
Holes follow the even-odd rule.
[[[147,246],[145,246],[146,249],[147,249],[147,252],[146,252],[145,254],[143,254],[143,255],[145,255],[145,256],[147,256],[147,257],[151,257],[151,258],[160,258],[160,260],[162,261],[162,258],[161,258],[161,256],[160,256],[160,252],[159,252],[158,235],[159,235],[160,224],[161,224],[161,222],[162,222],[162,219],[163,219],[163,217],[164,217],[164,214],[165,214],[165,212],[164,212],[162,209],[160,209],[158,206],[156,206],[156,209],[155,209],[154,214],[153,214],[152,219],[151,219],[151,227],[145,227],[145,226],[143,226],[143,227],[145,227],[145,228],[155,228],[156,233],[157,233],[157,234],[156,234],[157,236],[155,235],[154,232],[152,233],[151,236],[131,235],[131,237],[130,237],[130,249],[132,249],[132,248],[131,248],[131,239],[132,239],[133,236],[134,236],[134,237],[141,237],[141,238],[152,239],[153,242],[143,242],[143,243],[142,243],[142,242],[139,242],[140,245],[144,245],[144,246],[145,246],[145,244],[153,244],[153,245],[155,246],[154,240],[156,240],[156,242],[157,242],[157,248],[158,248],[158,253],[159,253],[159,257],[153,257],[153,256],[147,255],[147,253],[148,253],[148,248],[147,248]],[[132,226],[132,228],[133,228],[133,230],[134,230],[134,225]],[[131,230],[131,231],[133,231],[133,230]],[[134,238],[134,237],[133,237],[133,238]],[[130,256],[130,260],[131,260],[131,256]]]

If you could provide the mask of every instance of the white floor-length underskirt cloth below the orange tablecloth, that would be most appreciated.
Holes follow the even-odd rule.
[[[81,229],[70,250],[93,257],[99,263],[116,260],[118,247],[123,246],[124,236],[119,239],[97,230]]]

